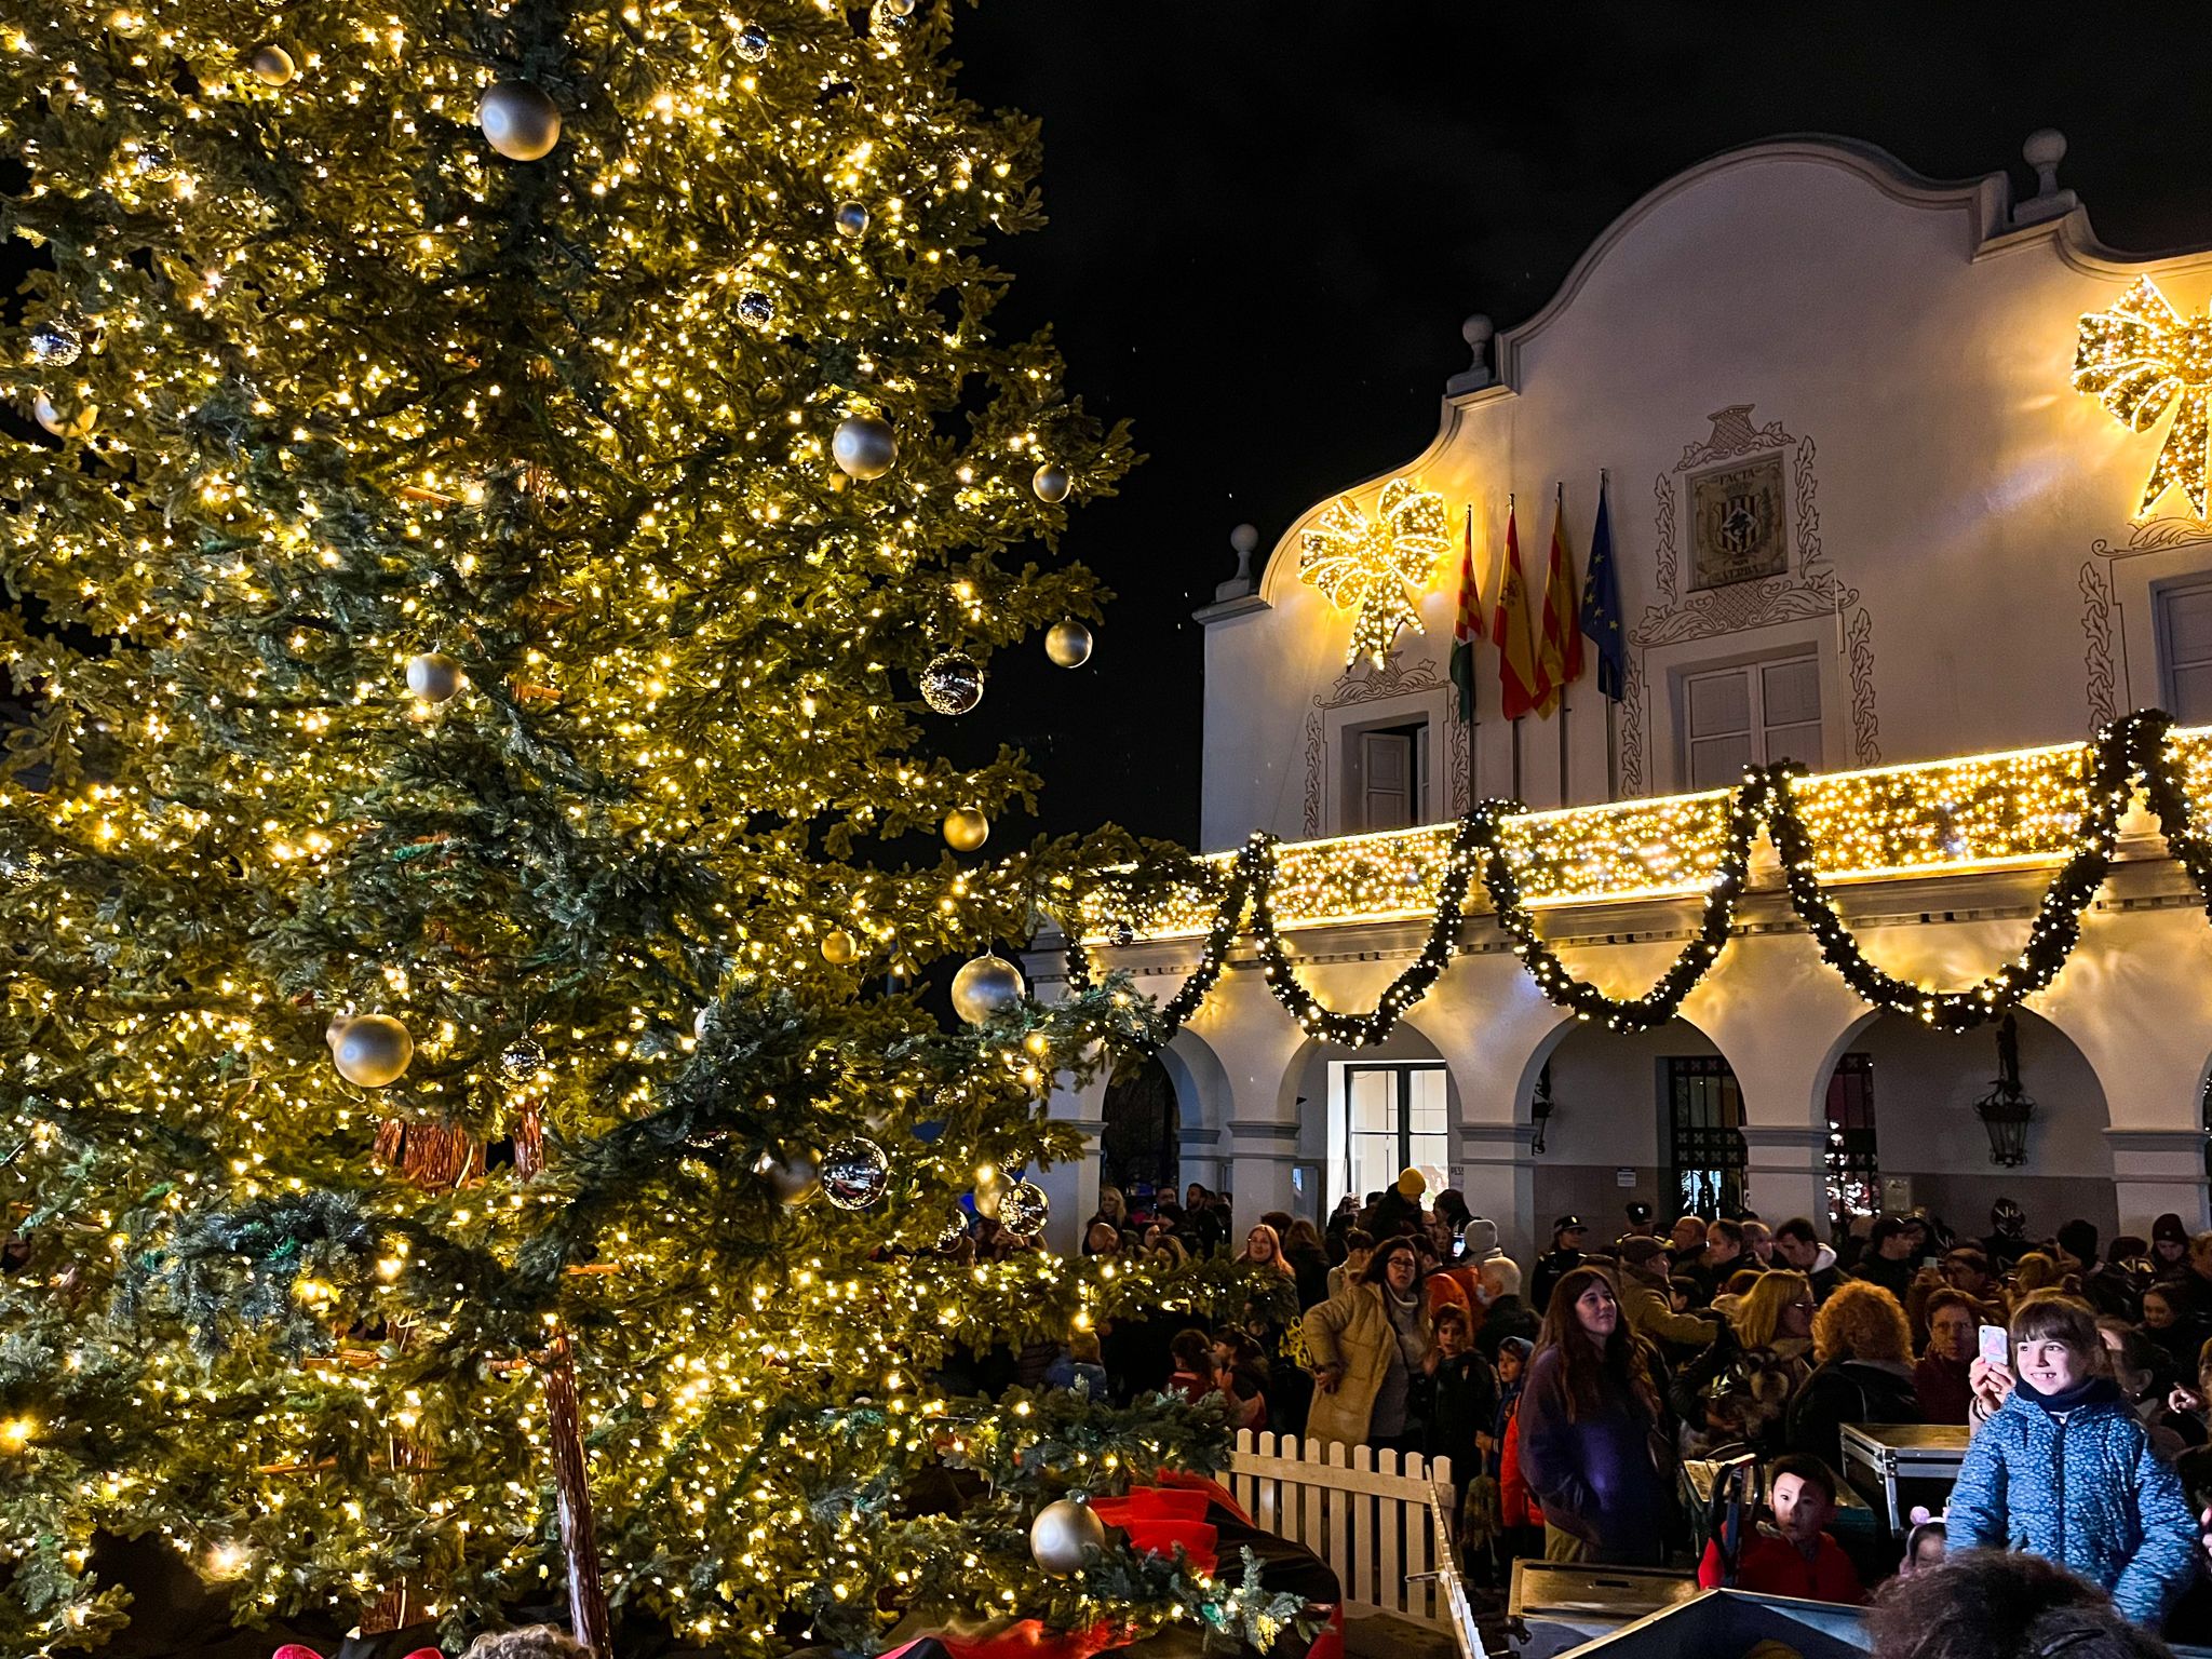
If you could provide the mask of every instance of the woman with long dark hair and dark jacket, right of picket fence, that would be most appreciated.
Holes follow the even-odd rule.
[[[1515,1425],[1522,1475],[1544,1509],[1544,1559],[1666,1559],[1674,1458],[1652,1352],[1601,1267],[1573,1267],[1553,1287]]]

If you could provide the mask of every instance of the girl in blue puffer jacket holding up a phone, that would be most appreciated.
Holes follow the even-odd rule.
[[[2097,1316],[2042,1290],[2015,1310],[2011,1345],[2013,1396],[1966,1447],[1949,1546],[2033,1551],[2157,1630],[2197,1571],[2197,1517],[2101,1374]]]

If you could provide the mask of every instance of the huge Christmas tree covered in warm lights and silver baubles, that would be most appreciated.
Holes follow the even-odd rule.
[[[925,1590],[1252,1615],[1022,1535],[1203,1413],[936,1380],[1164,1294],[945,1245],[978,1186],[1035,1221],[1000,1170],[1075,1148],[1040,1099],[1126,993],[987,960],[949,1035],[896,989],[1086,856],[978,854],[1033,779],[925,745],[991,719],[993,650],[1088,655],[1093,577],[1002,560],[1130,460],[989,332],[1035,131],[958,100],[947,29],[0,24],[40,250],[0,392],[44,429],[0,458],[7,1652],[124,1617],[100,1531],[248,1617],[449,1635],[562,1595],[732,1652]],[[945,1462],[1000,1480],[916,1513]]]

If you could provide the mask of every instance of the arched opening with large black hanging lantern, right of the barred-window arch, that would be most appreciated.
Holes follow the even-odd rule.
[[[1902,1013],[1869,1013],[1838,1044],[1825,1088],[1827,1194],[1851,1214],[1927,1208],[1980,1237],[1989,1208],[2013,1199],[2031,1237],[2081,1217],[2119,1230],[2110,1113],[2073,1037],[2028,1009],[2015,1015],[2020,1084],[2035,1102],[2024,1159],[2000,1164],[1975,1102],[1997,1077],[1997,1026],[1951,1035]]]

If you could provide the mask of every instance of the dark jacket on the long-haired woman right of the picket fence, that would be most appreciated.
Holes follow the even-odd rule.
[[[1606,1564],[1659,1566],[1672,1509],[1672,1471],[1659,1469],[1650,1411],[1635,1398],[1568,1413],[1559,1349],[1528,1363],[1517,1413],[1522,1473],[1544,1522],[1588,1544]]]

